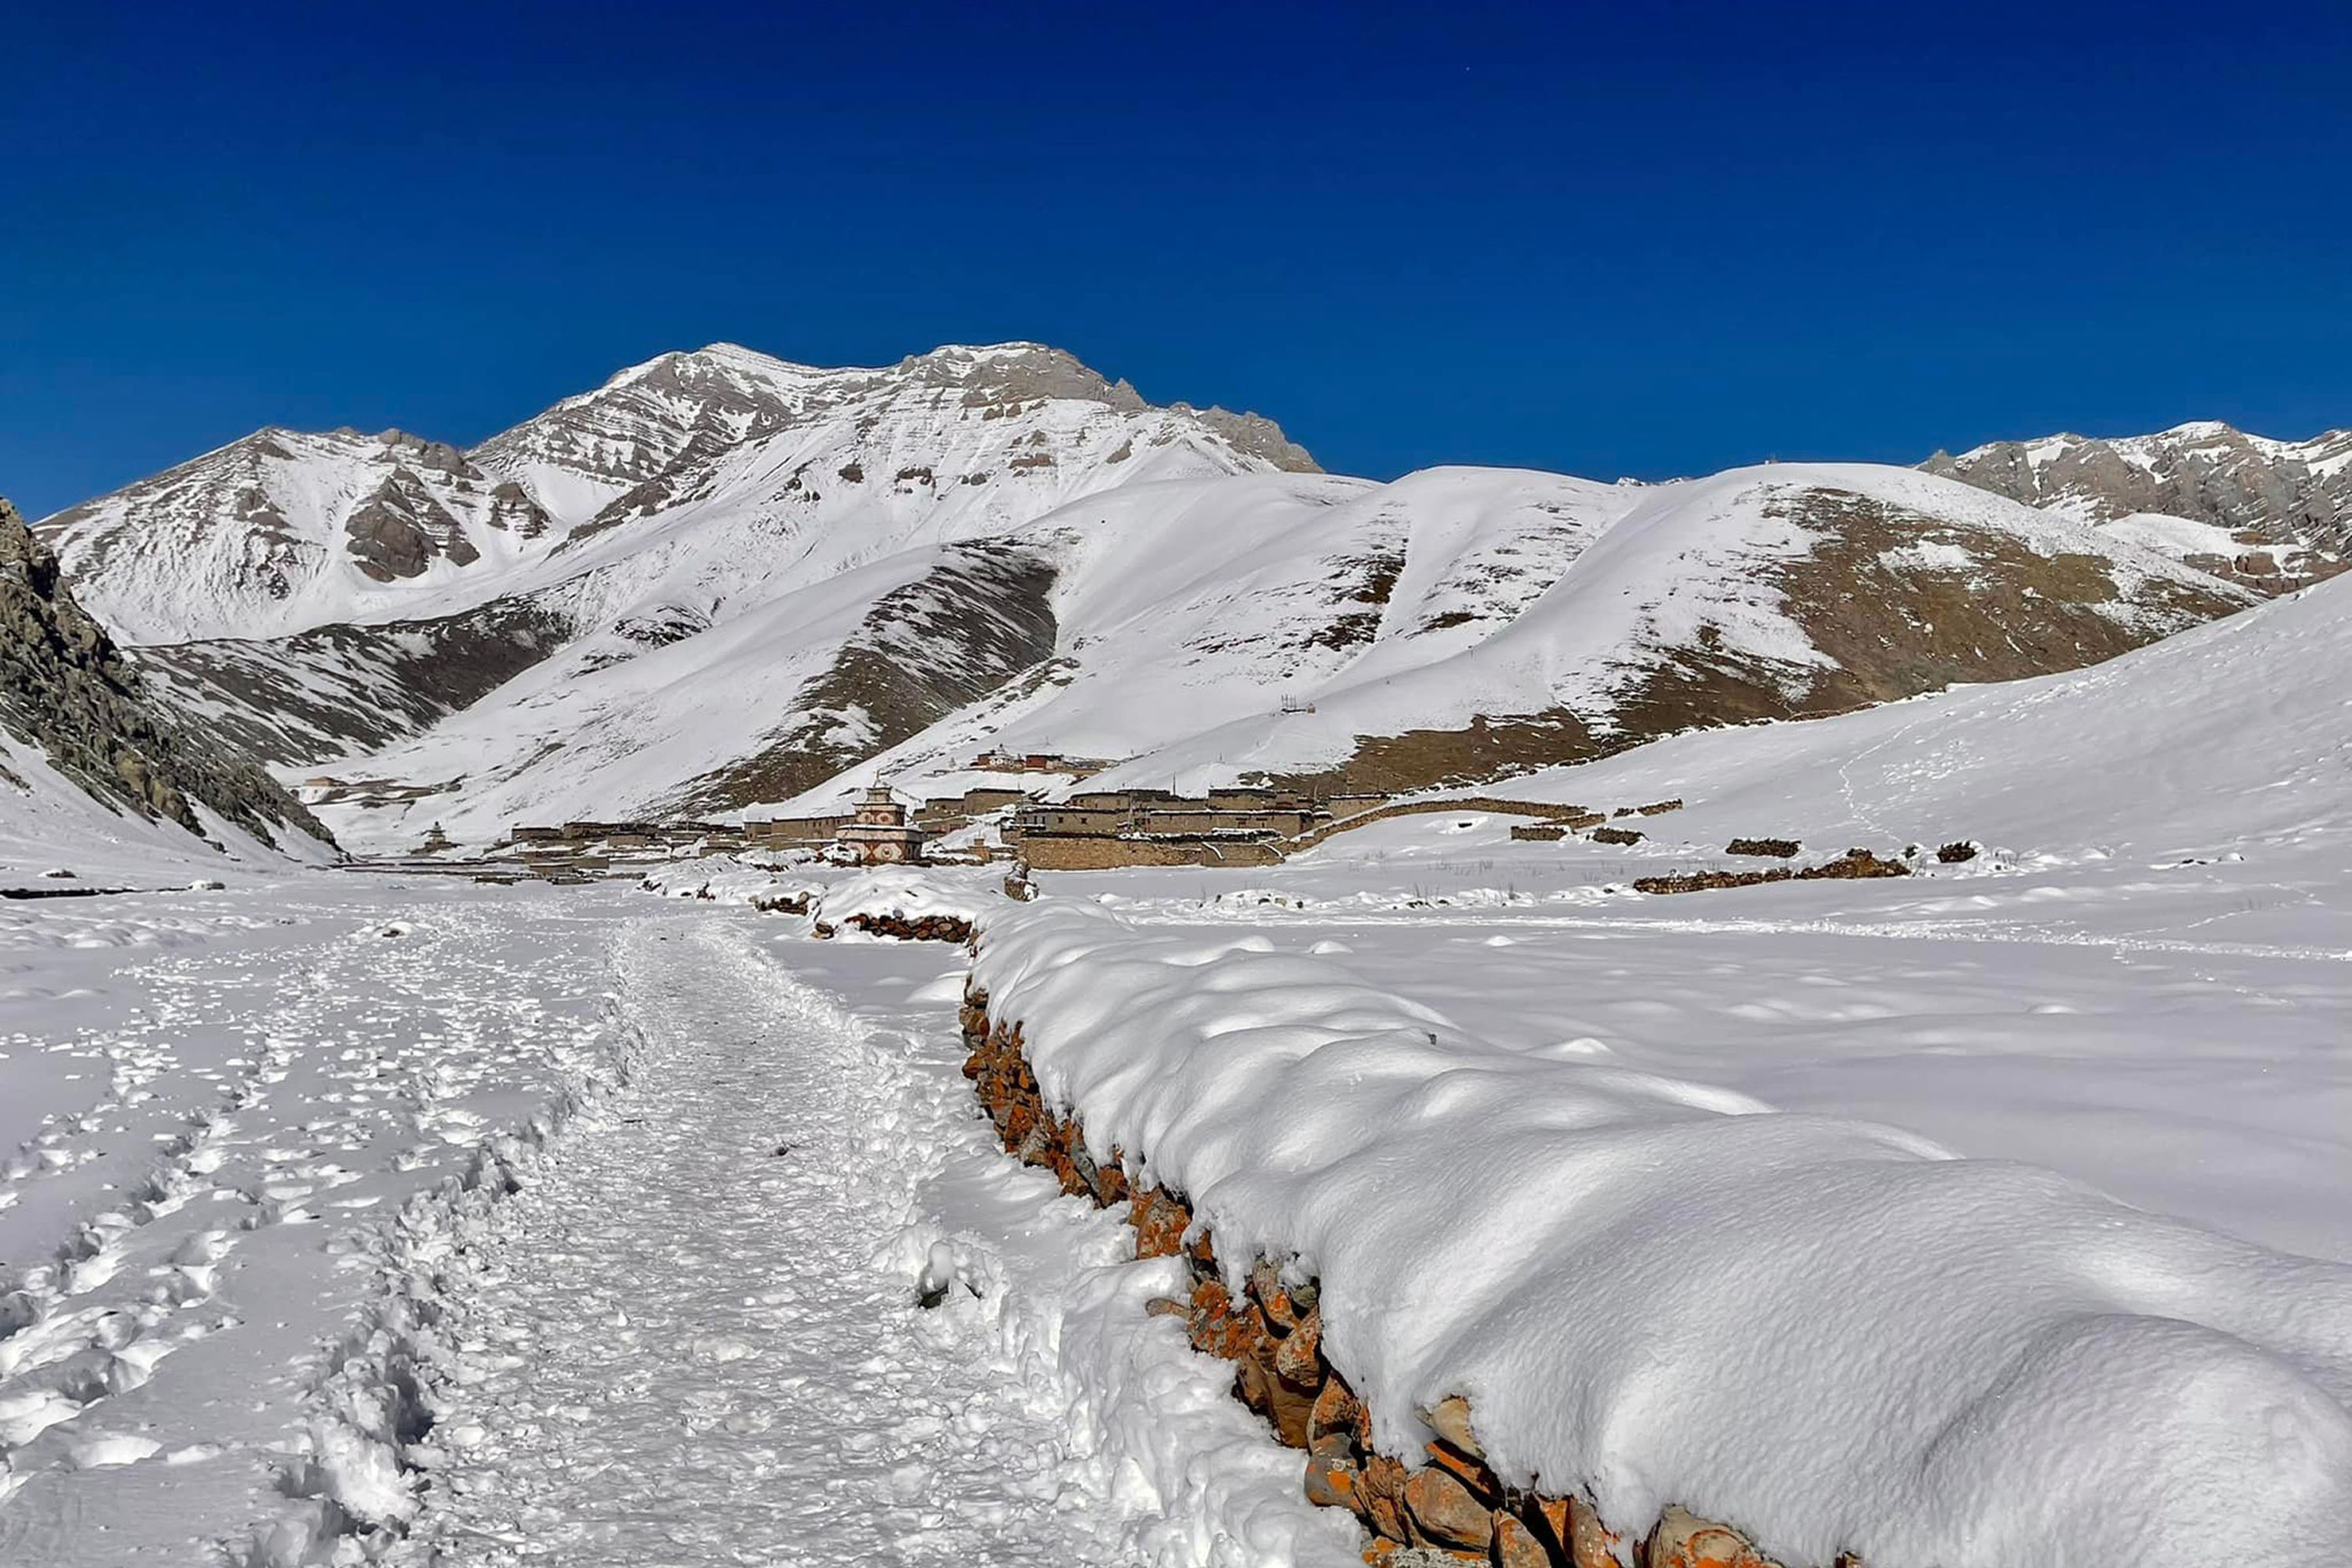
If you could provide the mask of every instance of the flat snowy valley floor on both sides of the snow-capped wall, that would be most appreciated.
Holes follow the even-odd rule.
[[[1054,889],[2352,1260],[2328,877],[1632,900],[1505,832]],[[0,1563],[1357,1561],[1181,1267],[997,1150],[955,947],[348,875],[0,922]]]

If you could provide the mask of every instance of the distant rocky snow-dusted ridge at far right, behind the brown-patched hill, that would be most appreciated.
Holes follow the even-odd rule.
[[[2352,557],[2352,430],[2277,442],[2216,421],[2157,435],[1992,442],[1929,473],[2044,505],[2263,592]]]

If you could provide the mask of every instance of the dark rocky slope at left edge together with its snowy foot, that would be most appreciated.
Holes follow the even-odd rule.
[[[75,602],[0,501],[0,872],[209,849],[332,853],[294,799],[155,708],[139,670]]]

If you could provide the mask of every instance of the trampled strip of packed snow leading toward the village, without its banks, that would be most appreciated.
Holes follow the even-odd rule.
[[[630,936],[621,980],[635,1086],[501,1206],[449,1300],[461,1389],[409,1544],[482,1566],[1108,1561],[1051,1368],[1000,1354],[983,1314],[915,1305],[946,1086],[722,919]]]

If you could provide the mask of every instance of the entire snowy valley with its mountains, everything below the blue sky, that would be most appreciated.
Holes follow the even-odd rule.
[[[2347,475],[713,346],[0,512],[0,1563],[2338,1561]]]

